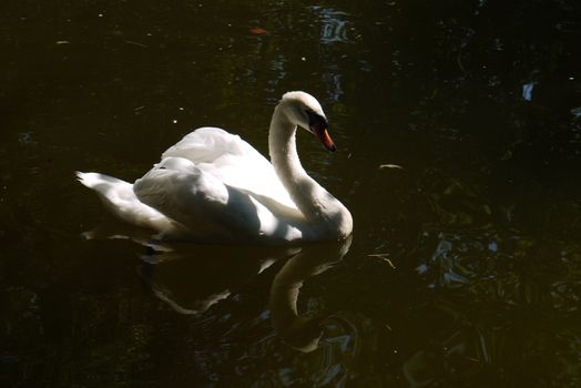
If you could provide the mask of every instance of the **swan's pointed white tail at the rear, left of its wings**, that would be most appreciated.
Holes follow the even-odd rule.
[[[149,227],[163,234],[172,234],[179,225],[155,208],[142,203],[133,192],[133,185],[116,177],[77,172],[77,178],[96,192],[103,205],[118,218],[136,226]]]

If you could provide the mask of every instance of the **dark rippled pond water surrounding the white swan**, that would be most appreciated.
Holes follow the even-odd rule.
[[[578,1],[8,0],[0,29],[1,386],[581,386]],[[207,124],[266,153],[297,89],[353,242],[82,237],[126,231],[73,171],[133,181]]]

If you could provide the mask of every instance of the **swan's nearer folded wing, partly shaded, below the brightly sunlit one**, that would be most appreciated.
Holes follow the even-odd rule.
[[[261,219],[255,204],[183,157],[166,157],[133,191],[144,204],[183,224],[201,239],[256,237]]]

